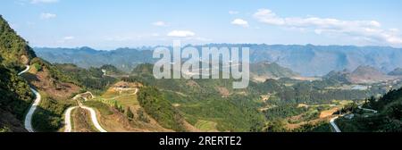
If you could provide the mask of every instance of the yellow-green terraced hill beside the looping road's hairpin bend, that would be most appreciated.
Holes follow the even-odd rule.
[[[99,112],[100,124],[110,132],[173,131],[163,128],[139,104],[138,93],[141,87],[143,87],[142,84],[138,82],[119,81],[100,96],[86,96],[76,100],[87,99],[83,104]],[[85,121],[74,121],[75,130],[77,130],[77,124],[85,124]]]

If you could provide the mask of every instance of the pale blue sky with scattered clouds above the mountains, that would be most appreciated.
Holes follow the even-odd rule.
[[[402,46],[400,0],[2,0],[31,46]]]

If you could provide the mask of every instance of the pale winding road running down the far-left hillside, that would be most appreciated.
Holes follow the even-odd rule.
[[[24,71],[21,71],[20,73],[18,73],[19,76],[21,76],[21,74],[29,71],[30,66],[27,65],[26,67],[27,68]],[[41,96],[40,96],[39,92],[37,90],[35,90],[33,87],[30,87],[30,90],[35,94],[36,98],[35,98],[35,101],[33,102],[33,104],[30,105],[27,115],[25,115],[24,127],[29,132],[35,132],[35,130],[32,128],[32,116],[33,116],[33,113],[37,110],[38,105],[40,104]]]

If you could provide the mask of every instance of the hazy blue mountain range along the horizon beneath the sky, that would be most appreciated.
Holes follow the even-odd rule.
[[[372,66],[382,72],[402,68],[402,49],[389,46],[299,46],[257,44],[209,44],[205,46],[249,47],[251,63],[277,63],[303,76],[322,76],[330,71],[353,71],[358,66]],[[202,47],[202,46],[196,46]],[[139,63],[155,63],[153,48],[118,48],[95,50],[90,47],[35,47],[39,57],[50,63],[75,63],[80,67],[100,67],[112,64],[130,72]]]

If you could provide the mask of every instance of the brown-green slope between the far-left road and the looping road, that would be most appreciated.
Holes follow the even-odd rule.
[[[57,131],[63,127],[64,110],[75,104],[71,97],[80,92],[80,83],[38,57],[30,63],[31,69],[23,77],[42,96],[32,117],[32,126],[38,131]]]

